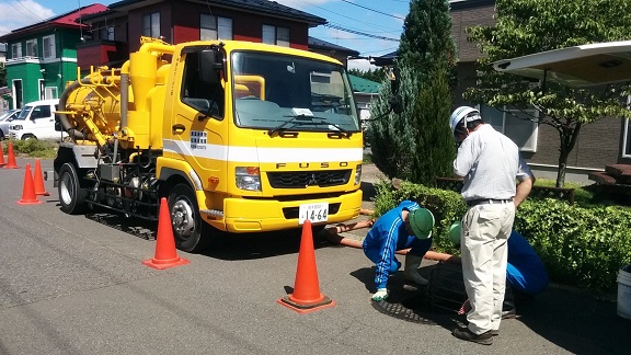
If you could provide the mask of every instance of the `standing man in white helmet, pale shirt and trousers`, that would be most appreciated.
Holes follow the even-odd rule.
[[[484,124],[478,110],[456,108],[449,126],[459,144],[454,173],[464,179],[461,195],[468,209],[462,218],[462,275],[471,302],[469,325],[452,334],[491,345],[502,320],[506,242],[515,209],[530,193],[535,176],[513,140]]]

